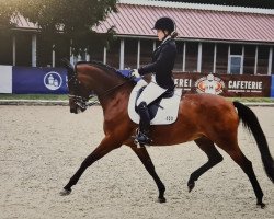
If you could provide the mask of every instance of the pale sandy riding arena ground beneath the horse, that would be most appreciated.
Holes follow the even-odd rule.
[[[274,155],[274,108],[252,107]],[[248,177],[221,150],[222,163],[203,175],[192,193],[190,174],[206,162],[193,143],[149,148],[167,186],[158,204],[157,187],[134,152],[122,147],[87,170],[70,196],[59,192],[103,137],[102,110],[80,115],[68,106],[0,106],[0,219],[80,218],[274,218],[274,185],[262,168],[251,136],[239,141],[264,191],[265,209],[255,206]]]

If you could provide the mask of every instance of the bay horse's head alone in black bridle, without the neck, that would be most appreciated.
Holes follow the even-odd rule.
[[[65,67],[68,70],[68,90],[69,90],[69,107],[70,113],[78,114],[87,110],[89,94],[84,87],[79,81],[77,71],[67,59],[62,59]]]

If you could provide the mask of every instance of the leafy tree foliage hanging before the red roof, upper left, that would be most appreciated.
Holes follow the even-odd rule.
[[[45,41],[59,45],[69,42],[75,54],[94,44],[106,43],[112,30],[100,37],[92,30],[107,13],[116,11],[116,0],[0,0],[0,27],[15,25],[24,16],[37,25]],[[60,37],[61,35],[61,37]]]

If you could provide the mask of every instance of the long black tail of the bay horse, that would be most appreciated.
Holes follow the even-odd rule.
[[[249,131],[251,131],[252,135],[254,136],[258,148],[261,152],[261,158],[263,161],[266,175],[274,183],[274,161],[270,153],[266,138],[264,136],[264,132],[261,128],[261,125],[255,114],[253,113],[253,111],[251,111],[251,108],[249,108],[248,106],[237,101],[233,102],[233,105],[238,111],[238,115],[239,115],[240,120],[243,124],[243,127],[249,129]]]

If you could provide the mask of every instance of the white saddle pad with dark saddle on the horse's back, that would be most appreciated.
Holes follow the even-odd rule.
[[[144,91],[147,82],[145,80],[138,81],[133,89],[129,103],[128,115],[130,119],[139,124],[139,115],[137,113],[137,99]],[[176,120],[179,104],[182,95],[182,89],[168,90],[160,97],[155,100],[148,105],[148,112],[150,115],[150,125],[168,125]]]

